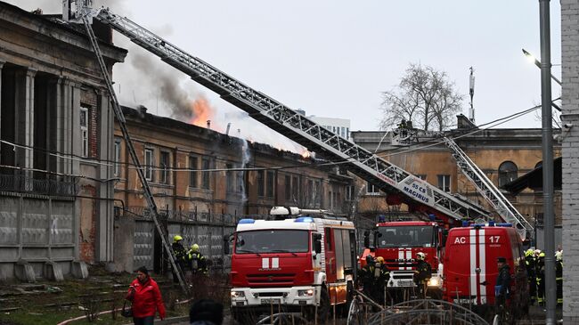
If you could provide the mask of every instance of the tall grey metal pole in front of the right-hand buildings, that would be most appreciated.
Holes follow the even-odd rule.
[[[542,213],[545,242],[545,324],[554,325],[557,305],[555,282],[555,216],[553,214],[553,130],[550,110],[550,0],[539,0],[542,93]]]

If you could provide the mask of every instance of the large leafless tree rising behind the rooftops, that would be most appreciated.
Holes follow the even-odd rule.
[[[442,131],[453,123],[461,110],[457,93],[446,72],[411,63],[395,89],[382,93],[381,129],[394,128],[402,119],[423,130]]]

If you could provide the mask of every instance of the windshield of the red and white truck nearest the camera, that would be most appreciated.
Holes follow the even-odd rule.
[[[308,239],[307,231],[274,229],[238,232],[235,253],[306,253],[309,251]]]

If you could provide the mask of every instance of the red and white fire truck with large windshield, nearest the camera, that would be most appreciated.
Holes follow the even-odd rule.
[[[301,311],[327,317],[346,304],[355,280],[355,227],[344,218],[307,216],[295,207],[273,207],[283,220],[242,219],[233,235],[232,315]],[[320,210],[317,210],[319,213]]]

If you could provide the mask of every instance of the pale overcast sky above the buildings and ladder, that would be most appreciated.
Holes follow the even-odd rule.
[[[8,1],[45,13],[61,0]],[[101,0],[116,13],[207,61],[246,85],[307,115],[349,118],[352,130],[375,130],[380,92],[398,84],[409,63],[444,70],[468,98],[469,67],[477,77],[477,124],[541,102],[540,69],[521,48],[540,56],[539,1],[152,1]],[[560,5],[550,2],[553,74],[560,76]],[[122,103],[142,103],[170,116],[156,77],[169,76],[178,92],[203,96],[216,124],[264,141],[269,134],[242,118],[208,89],[117,35],[128,48],[114,76]],[[138,60],[137,60],[138,59]],[[137,63],[136,61],[139,61]],[[150,68],[148,68],[150,67]],[[553,84],[553,98],[560,87]],[[468,101],[464,102],[468,115]],[[531,114],[504,127],[540,127]],[[270,138],[267,138],[270,139]],[[274,141],[275,142],[275,141]]]

